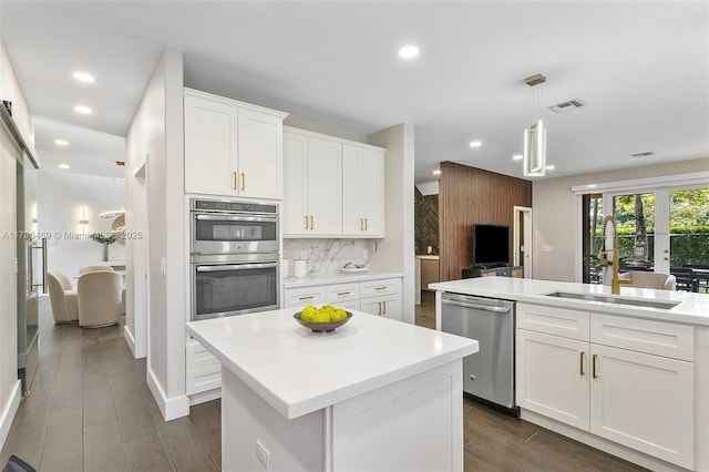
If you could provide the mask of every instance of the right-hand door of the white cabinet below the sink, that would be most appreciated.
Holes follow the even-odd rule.
[[[590,432],[692,469],[695,365],[599,345],[590,353]]]

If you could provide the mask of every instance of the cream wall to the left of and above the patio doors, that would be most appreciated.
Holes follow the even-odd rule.
[[[533,277],[580,281],[580,205],[572,186],[689,174],[709,170],[709,158],[638,166],[612,172],[548,178],[532,185]],[[542,252],[551,246],[553,252]]]

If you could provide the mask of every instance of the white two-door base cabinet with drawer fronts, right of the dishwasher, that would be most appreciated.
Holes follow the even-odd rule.
[[[541,319],[544,308],[517,304],[517,326],[531,327],[528,320]],[[545,327],[538,322],[533,325],[534,330],[516,330],[517,404],[693,469],[693,328],[607,314],[549,310],[554,324]],[[585,318],[590,326],[585,339],[557,335],[559,325],[578,324],[579,319],[586,325]],[[569,332],[574,337],[578,334]]]

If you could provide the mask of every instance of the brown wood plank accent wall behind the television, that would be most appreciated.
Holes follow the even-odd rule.
[[[510,260],[514,206],[532,207],[532,182],[481,168],[441,163],[439,237],[441,281],[458,280],[472,267],[473,224],[510,226]]]

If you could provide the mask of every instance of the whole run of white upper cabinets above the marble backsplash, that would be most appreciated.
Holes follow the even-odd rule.
[[[383,237],[384,152],[286,127],[284,236]]]

